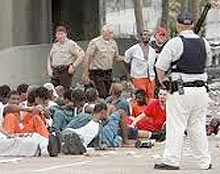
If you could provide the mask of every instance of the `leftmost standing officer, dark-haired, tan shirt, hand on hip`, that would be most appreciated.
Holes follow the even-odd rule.
[[[84,58],[84,51],[67,38],[64,26],[56,28],[56,42],[53,44],[48,59],[48,74],[54,86],[71,86],[72,77],[77,66]]]

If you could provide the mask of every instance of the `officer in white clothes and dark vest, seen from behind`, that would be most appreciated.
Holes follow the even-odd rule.
[[[167,137],[163,160],[154,168],[179,169],[187,130],[199,167],[211,169],[205,129],[209,100],[206,68],[211,64],[211,50],[208,42],[193,32],[193,18],[189,12],[178,15],[176,27],[179,36],[168,41],[156,63],[161,84],[166,71],[171,69],[171,92],[166,103]]]

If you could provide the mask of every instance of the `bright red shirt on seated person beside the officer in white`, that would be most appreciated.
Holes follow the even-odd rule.
[[[151,100],[143,113],[148,118],[143,118],[136,124],[136,128],[139,130],[159,131],[166,121],[166,110],[161,108],[158,99]]]

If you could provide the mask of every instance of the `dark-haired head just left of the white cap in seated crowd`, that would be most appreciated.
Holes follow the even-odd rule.
[[[50,100],[50,92],[47,88],[40,86],[36,89],[35,103],[44,107],[48,106]]]

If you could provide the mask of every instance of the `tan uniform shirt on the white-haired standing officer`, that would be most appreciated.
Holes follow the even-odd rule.
[[[91,58],[90,70],[112,69],[113,59],[119,55],[116,42],[105,41],[102,36],[89,43],[86,54]]]

